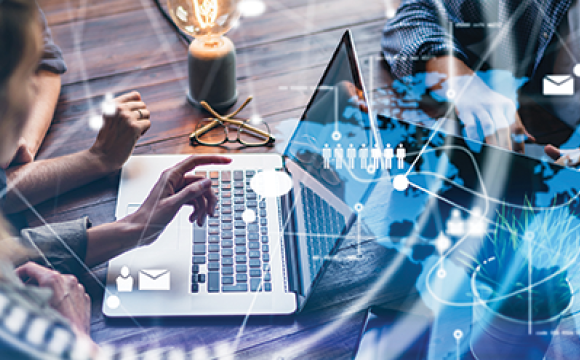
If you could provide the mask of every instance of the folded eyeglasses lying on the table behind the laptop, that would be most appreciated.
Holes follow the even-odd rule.
[[[270,127],[265,122],[251,124],[249,120],[238,120],[238,115],[252,101],[248,97],[236,111],[228,115],[220,115],[205,101],[200,104],[214,117],[201,120],[195,127],[195,131],[189,136],[191,144],[205,146],[221,146],[225,143],[238,142],[243,146],[271,146],[276,138],[270,132]],[[237,128],[237,136],[230,139],[230,129]]]

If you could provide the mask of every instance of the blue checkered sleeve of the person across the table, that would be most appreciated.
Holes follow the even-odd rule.
[[[455,4],[454,4],[455,3]],[[460,1],[405,0],[383,29],[382,50],[397,78],[412,75],[433,56],[454,56],[468,62],[461,44],[449,34],[450,23],[462,21]]]

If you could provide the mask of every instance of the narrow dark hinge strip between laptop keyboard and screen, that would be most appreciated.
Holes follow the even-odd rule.
[[[298,249],[296,247],[296,218],[292,211],[294,202],[294,190],[284,195],[280,199],[281,227],[284,232],[284,251],[286,261],[286,274],[288,278],[288,289],[291,292],[300,294],[300,274],[298,271]]]

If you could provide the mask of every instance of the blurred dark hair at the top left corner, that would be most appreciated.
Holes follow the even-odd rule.
[[[0,91],[24,57],[37,14],[34,0],[0,0]]]

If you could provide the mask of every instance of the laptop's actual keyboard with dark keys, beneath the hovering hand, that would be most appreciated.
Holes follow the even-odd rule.
[[[200,284],[209,293],[272,291],[266,202],[250,188],[255,174],[254,170],[209,173],[219,201],[204,226],[193,225],[192,293],[200,291]],[[255,221],[244,221],[246,209],[253,210]]]

